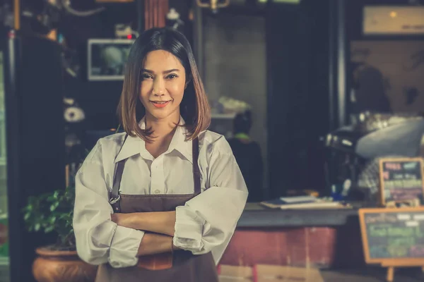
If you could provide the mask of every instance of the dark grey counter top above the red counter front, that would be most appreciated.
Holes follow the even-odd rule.
[[[247,203],[237,227],[341,226],[358,217],[358,209],[269,209]]]

